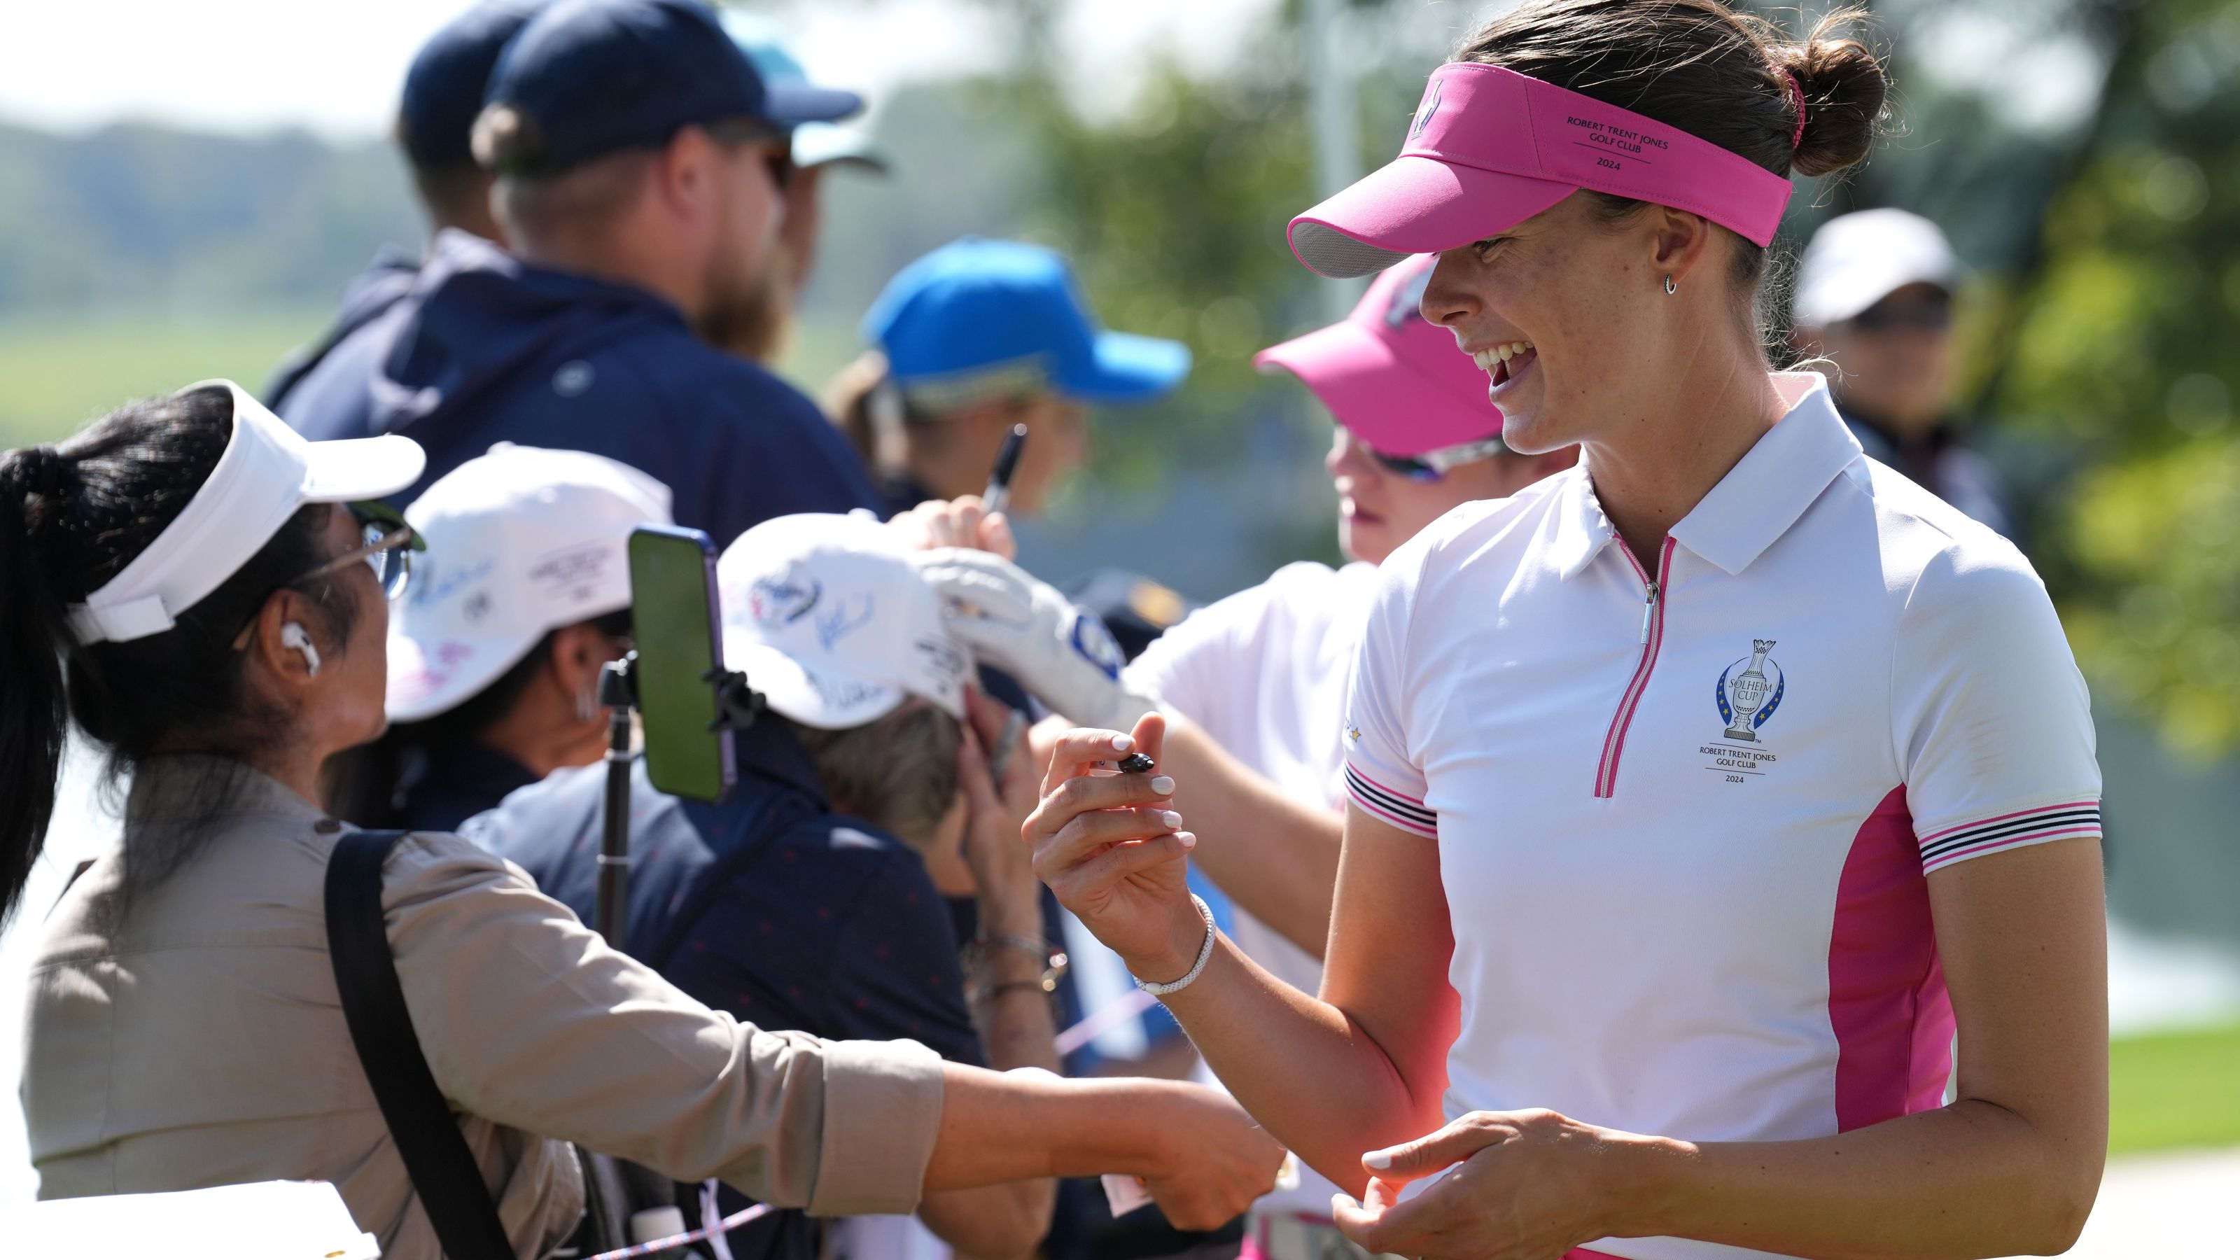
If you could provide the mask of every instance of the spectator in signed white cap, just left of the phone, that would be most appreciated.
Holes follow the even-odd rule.
[[[629,531],[670,491],[582,451],[493,446],[405,509],[428,540],[390,617],[390,731],[329,767],[361,827],[455,832],[607,747],[598,670],[629,650]]]

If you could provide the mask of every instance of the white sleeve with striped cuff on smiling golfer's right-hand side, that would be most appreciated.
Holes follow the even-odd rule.
[[[2092,700],[2018,552],[1969,545],[1920,574],[1891,684],[1924,872],[2099,839]]]

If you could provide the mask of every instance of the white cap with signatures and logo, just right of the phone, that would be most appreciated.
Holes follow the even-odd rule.
[[[900,536],[869,513],[764,520],[724,549],[717,587],[724,664],[777,713],[844,731],[918,695],[963,720],[972,652]]]

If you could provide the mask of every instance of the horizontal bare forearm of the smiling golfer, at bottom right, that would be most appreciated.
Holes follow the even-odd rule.
[[[2101,1155],[1980,1099],[1810,1141],[1628,1143],[1626,1238],[1828,1260],[2052,1256],[2076,1242]]]

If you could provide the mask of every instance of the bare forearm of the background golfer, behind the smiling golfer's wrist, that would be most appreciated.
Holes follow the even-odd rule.
[[[1230,901],[1322,957],[1344,814],[1286,796],[1183,717],[1167,729],[1163,769],[1176,780],[1174,807],[1205,839],[1192,861]]]

